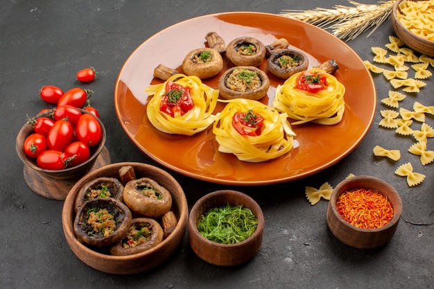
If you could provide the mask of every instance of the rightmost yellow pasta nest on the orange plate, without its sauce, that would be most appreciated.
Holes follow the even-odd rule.
[[[345,111],[345,86],[336,77],[322,69],[310,69],[326,76],[327,89],[311,93],[295,87],[297,77],[304,73],[290,76],[283,85],[278,85],[272,106],[281,112],[286,112],[290,119],[295,119],[291,124],[319,123],[322,125],[334,125],[342,120]]]

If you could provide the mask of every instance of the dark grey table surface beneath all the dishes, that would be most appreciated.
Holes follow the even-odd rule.
[[[376,3],[363,1],[362,3]],[[214,12],[332,8],[347,1],[2,1],[0,7],[1,288],[432,288],[434,272],[434,169],[406,153],[411,137],[396,137],[379,127],[381,103],[391,89],[383,76],[374,76],[377,111],[361,144],[338,164],[304,179],[267,186],[211,184],[177,173],[191,208],[202,195],[216,189],[243,191],[263,208],[263,244],[257,256],[235,267],[210,265],[189,247],[188,232],[180,248],[157,268],[134,275],[99,272],[78,259],[62,231],[62,201],[42,198],[24,182],[23,164],[15,138],[29,116],[46,107],[39,98],[43,85],[80,85],[75,73],[95,67],[98,79],[92,104],[107,128],[106,146],[112,162],[139,161],[159,166],[137,149],[115,116],[116,77],[128,56],[148,37],[179,21]],[[390,20],[370,37],[363,33],[347,42],[362,60],[371,60],[372,46],[384,47],[394,35]],[[433,71],[433,67],[430,68]],[[403,105],[417,100],[434,105],[433,79]],[[433,125],[432,116],[426,123]],[[398,163],[375,158],[372,149],[390,145],[401,149]],[[433,149],[428,140],[428,149]],[[394,174],[397,164],[410,161],[426,179],[409,187]],[[329,231],[328,202],[311,206],[305,186],[336,186],[349,173],[372,175],[392,184],[403,201],[396,234],[377,249],[354,249]]]

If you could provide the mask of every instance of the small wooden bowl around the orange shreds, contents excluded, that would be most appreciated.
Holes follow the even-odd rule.
[[[376,229],[361,229],[344,220],[336,209],[336,201],[342,193],[352,189],[374,189],[385,195],[393,207],[392,220]],[[327,224],[333,235],[342,243],[359,249],[371,249],[388,243],[397,229],[401,212],[401,197],[390,184],[376,177],[356,176],[345,179],[333,189],[327,208]]]

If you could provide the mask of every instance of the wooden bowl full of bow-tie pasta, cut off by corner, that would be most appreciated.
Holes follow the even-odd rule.
[[[417,28],[416,26],[417,21],[415,19],[406,19],[406,3],[407,0],[398,0],[394,3],[394,6],[392,8],[392,27],[394,30],[394,33],[397,34],[399,39],[406,44],[406,46],[410,47],[410,49],[413,49],[414,51],[417,51],[421,54],[427,55],[429,57],[434,57],[434,41],[431,36],[431,40],[428,40],[428,36],[425,35],[422,31],[424,29]],[[419,1],[411,1],[412,3],[424,3],[426,1],[419,0]],[[418,6],[412,6],[411,10],[414,10],[415,12],[418,12],[417,19],[420,19],[419,26],[422,26],[422,17],[424,17],[424,12],[422,10],[417,11],[419,8]],[[422,6],[421,6],[422,7]],[[422,8],[421,8],[422,9]],[[428,22],[427,25],[432,24],[433,21],[426,15],[425,17]],[[415,28],[415,32],[412,32],[413,28]],[[418,31],[416,33],[416,31]],[[431,33],[432,34],[432,33]]]

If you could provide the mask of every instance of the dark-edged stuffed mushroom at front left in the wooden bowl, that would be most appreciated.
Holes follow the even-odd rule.
[[[81,243],[105,247],[126,236],[131,220],[130,209],[120,200],[94,199],[78,209],[73,229]]]

